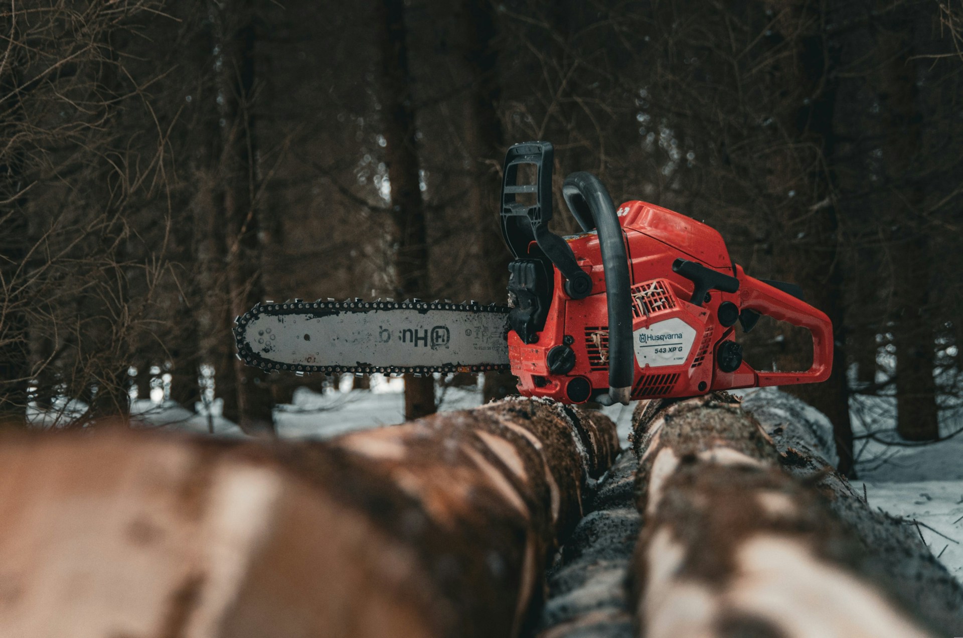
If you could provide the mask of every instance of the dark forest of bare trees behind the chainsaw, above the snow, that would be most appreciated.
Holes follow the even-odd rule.
[[[705,221],[830,316],[833,375],[793,391],[832,420],[841,469],[854,396],[894,395],[880,422],[900,439],[945,439],[961,20],[947,0],[11,0],[0,420],[71,397],[86,409],[63,425],[87,425],[163,371],[181,405],[213,381],[225,417],[270,431],[297,385],[331,382],[241,365],[234,317],[296,297],[504,303],[501,162],[548,140],[559,185],[589,171],[616,204]],[[775,322],[740,338],[758,368],[810,356]],[[405,381],[408,415],[431,412],[434,380]]]

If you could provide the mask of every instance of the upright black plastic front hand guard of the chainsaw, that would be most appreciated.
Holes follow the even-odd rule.
[[[526,142],[508,148],[502,181],[502,236],[516,259],[536,257],[554,264],[565,278],[565,294],[585,299],[592,291],[592,279],[579,267],[565,240],[548,229],[554,162],[555,149],[549,142]],[[522,165],[534,166],[534,184],[518,183]],[[531,248],[532,242],[537,245],[536,251]]]

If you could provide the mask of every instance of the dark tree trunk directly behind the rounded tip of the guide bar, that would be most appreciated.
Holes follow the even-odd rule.
[[[226,242],[224,266],[229,302],[222,315],[219,336],[224,349],[221,366],[234,373],[237,393],[234,406],[224,402],[224,415],[236,420],[247,433],[273,432],[273,402],[267,374],[234,357],[234,317],[262,301],[260,219],[255,193],[258,188],[253,6],[247,0],[220,5],[218,13],[221,52],[216,60],[218,98],[221,104],[221,206]],[[219,66],[220,65],[220,66]]]

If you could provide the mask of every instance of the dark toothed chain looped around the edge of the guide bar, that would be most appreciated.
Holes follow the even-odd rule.
[[[244,338],[245,327],[247,323],[252,319],[257,317],[259,314],[327,314],[331,311],[338,312],[366,312],[368,310],[395,310],[399,308],[404,309],[428,309],[428,310],[454,310],[457,312],[500,312],[502,314],[508,314],[511,309],[508,306],[499,306],[498,304],[488,304],[481,305],[475,300],[470,302],[462,302],[461,304],[452,304],[450,301],[445,300],[443,302],[434,301],[431,303],[423,302],[420,299],[407,299],[403,302],[395,302],[390,299],[388,300],[376,300],[374,302],[365,302],[362,299],[355,297],[346,299],[343,302],[336,302],[333,299],[328,298],[325,301],[318,300],[316,302],[304,302],[300,299],[289,300],[283,304],[276,304],[274,302],[266,302],[264,304],[258,303],[254,307],[247,310],[240,317],[235,318],[234,324],[234,341],[237,346],[238,354],[237,358],[244,361],[247,365],[260,368],[265,372],[295,372],[296,374],[312,374],[312,373],[322,373],[322,374],[341,374],[346,372],[362,373],[362,374],[386,374],[386,375],[402,375],[402,374],[414,374],[415,376],[433,374],[435,372],[441,373],[452,373],[452,372],[488,372],[488,371],[507,371],[511,368],[508,363],[488,363],[481,365],[296,365],[291,363],[278,363],[271,359],[265,359],[260,355],[254,353],[251,347],[247,344],[247,340]]]

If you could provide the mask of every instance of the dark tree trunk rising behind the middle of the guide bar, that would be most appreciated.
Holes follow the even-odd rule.
[[[408,74],[404,3],[377,0],[377,40],[381,54],[379,84],[384,114],[385,164],[391,182],[391,215],[396,226],[396,296],[429,294],[429,249],[421,194],[415,112]],[[404,375],[404,418],[435,412],[434,377]]]

